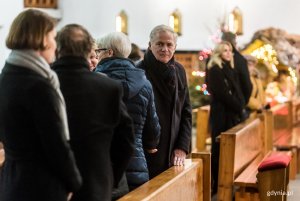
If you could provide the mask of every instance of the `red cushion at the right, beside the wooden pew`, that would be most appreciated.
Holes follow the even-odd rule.
[[[289,165],[290,161],[290,156],[282,153],[275,153],[268,156],[260,163],[258,171],[262,172],[266,170],[285,168]]]

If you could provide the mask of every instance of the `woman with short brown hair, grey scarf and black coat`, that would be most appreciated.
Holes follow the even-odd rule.
[[[81,185],[65,101],[49,66],[55,36],[55,20],[29,9],[14,19],[6,39],[12,51],[0,76],[1,201],[66,201]]]

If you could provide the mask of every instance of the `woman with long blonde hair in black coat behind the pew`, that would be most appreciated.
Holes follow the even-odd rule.
[[[221,42],[214,49],[207,64],[208,88],[211,94],[210,124],[212,137],[212,193],[217,192],[219,169],[219,144],[216,137],[241,121],[244,99],[234,70],[232,46]]]

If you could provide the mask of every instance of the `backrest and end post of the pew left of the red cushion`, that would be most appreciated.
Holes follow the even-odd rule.
[[[263,123],[259,118],[245,122],[221,134],[218,200],[231,201],[237,176],[253,161],[260,161]]]

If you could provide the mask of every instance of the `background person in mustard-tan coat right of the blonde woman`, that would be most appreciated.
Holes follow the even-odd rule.
[[[244,57],[248,63],[248,69],[252,83],[252,92],[247,107],[250,112],[261,112],[266,105],[266,97],[262,81],[259,76],[259,71],[256,69],[257,59],[251,55],[245,55]]]

